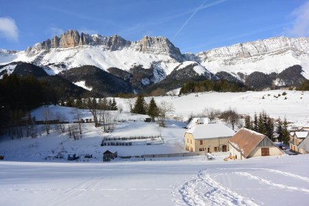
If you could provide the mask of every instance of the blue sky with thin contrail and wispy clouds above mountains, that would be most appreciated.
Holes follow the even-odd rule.
[[[23,50],[73,29],[130,41],[165,36],[181,52],[309,36],[304,0],[0,1],[0,48]]]

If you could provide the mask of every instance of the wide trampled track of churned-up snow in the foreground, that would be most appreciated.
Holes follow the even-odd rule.
[[[187,181],[179,190],[183,201],[193,205],[257,205],[249,198],[232,192],[211,178],[206,170],[198,172],[198,178]],[[205,192],[205,193],[203,193]]]

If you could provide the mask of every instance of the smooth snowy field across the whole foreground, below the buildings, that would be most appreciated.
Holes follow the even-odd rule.
[[[308,161],[4,161],[0,205],[308,205]]]

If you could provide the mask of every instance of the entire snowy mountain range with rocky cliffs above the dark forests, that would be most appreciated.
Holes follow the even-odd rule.
[[[197,63],[194,71],[198,74],[225,71],[242,81],[242,74],[280,73],[293,65],[301,65],[304,70],[301,74],[309,79],[309,38],[276,37],[198,54],[181,54],[179,48],[164,37],[144,36],[140,41],[130,42],[117,35],[79,34],[68,30],[60,37],[36,43],[22,52],[0,49],[0,65],[16,61],[44,66],[49,74],[83,65],[106,71],[111,67],[129,71],[141,65],[144,69],[154,68],[155,82],[181,68],[181,64],[194,62]]]

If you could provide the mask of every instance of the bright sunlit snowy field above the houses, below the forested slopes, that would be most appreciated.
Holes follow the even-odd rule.
[[[286,92],[286,95],[282,93]],[[278,97],[278,94],[280,96]],[[262,99],[264,96],[264,99]],[[275,98],[274,96],[277,96]],[[286,98],[286,100],[285,100]],[[127,108],[126,100],[116,98],[119,104]],[[150,98],[146,98],[147,102]],[[277,118],[284,116],[296,125],[303,126],[309,122],[309,91],[247,91],[236,93],[192,93],[181,97],[157,97],[156,102],[162,100],[172,102],[175,108],[175,115],[186,119],[191,114],[198,115],[205,111],[205,108],[215,108],[226,110],[229,107],[236,108],[238,113],[254,115],[263,110],[271,117]]]

